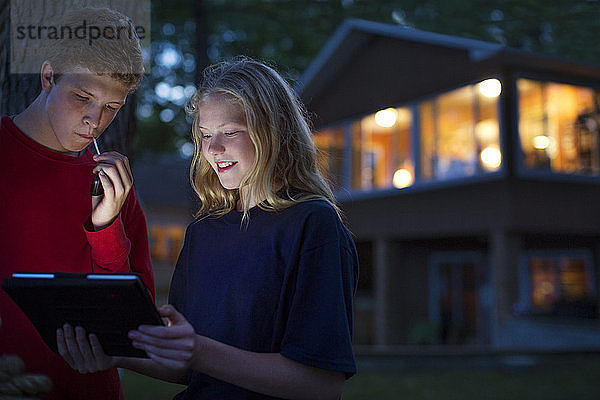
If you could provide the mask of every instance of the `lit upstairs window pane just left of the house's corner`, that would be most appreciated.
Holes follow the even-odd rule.
[[[473,176],[500,168],[500,92],[500,81],[488,79],[419,105],[424,179]]]

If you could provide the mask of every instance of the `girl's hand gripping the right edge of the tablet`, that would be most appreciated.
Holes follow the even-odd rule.
[[[172,305],[160,307],[158,313],[169,320],[168,326],[141,325],[129,332],[133,347],[164,367],[187,370],[197,347],[194,328]]]

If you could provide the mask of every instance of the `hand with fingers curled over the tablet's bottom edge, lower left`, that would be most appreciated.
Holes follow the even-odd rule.
[[[85,374],[104,371],[117,364],[118,358],[104,353],[96,335],[90,334],[88,340],[82,327],[78,326],[74,331],[69,324],[56,331],[58,353],[71,368]]]

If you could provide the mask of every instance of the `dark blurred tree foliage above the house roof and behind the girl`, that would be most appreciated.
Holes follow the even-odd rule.
[[[181,149],[188,140],[183,104],[207,63],[243,54],[295,80],[346,18],[600,63],[598,0],[153,0],[152,7],[154,66],[140,91],[141,152]],[[169,54],[177,62],[161,66]],[[157,95],[160,87],[167,97]]]

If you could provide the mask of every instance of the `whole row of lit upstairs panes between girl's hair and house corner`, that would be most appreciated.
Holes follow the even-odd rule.
[[[413,143],[412,106],[386,108],[316,132],[320,169],[336,192],[400,189],[413,185],[415,175],[432,181],[497,171],[501,91],[499,80],[487,79],[415,104],[420,149]],[[420,174],[416,157],[421,157]]]

